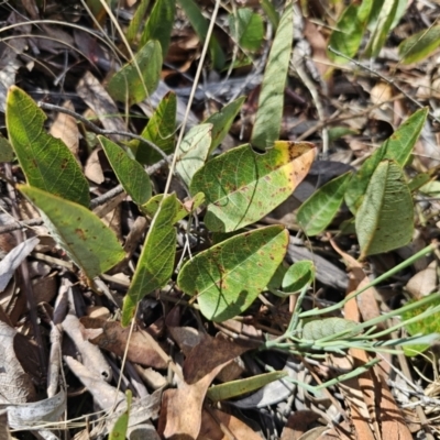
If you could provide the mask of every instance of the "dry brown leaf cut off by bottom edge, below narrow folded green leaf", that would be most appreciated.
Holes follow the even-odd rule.
[[[210,409],[209,411],[204,409],[201,429],[197,440],[230,440],[231,436],[235,439],[262,439],[260,435],[237,417],[218,409]]]

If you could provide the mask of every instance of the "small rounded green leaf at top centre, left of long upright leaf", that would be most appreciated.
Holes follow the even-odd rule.
[[[229,15],[229,29],[235,42],[242,48],[257,51],[264,36],[264,25],[261,15],[250,8],[240,8],[235,15]]]

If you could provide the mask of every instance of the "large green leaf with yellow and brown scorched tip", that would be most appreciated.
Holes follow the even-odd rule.
[[[266,216],[304,179],[315,153],[308,142],[278,141],[265,154],[242,145],[209,161],[190,184],[206,196],[207,228],[231,232]]]

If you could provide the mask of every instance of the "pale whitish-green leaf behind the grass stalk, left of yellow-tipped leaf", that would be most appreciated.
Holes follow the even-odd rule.
[[[187,186],[189,186],[195,173],[205,165],[208,158],[211,146],[211,131],[212,124],[210,123],[193,127],[185,134],[183,142],[176,151],[176,173]]]

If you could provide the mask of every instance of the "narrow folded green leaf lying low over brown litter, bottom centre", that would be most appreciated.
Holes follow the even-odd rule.
[[[271,372],[227,382],[226,384],[215,385],[208,388],[207,397],[213,402],[228,400],[232,397],[254,392],[255,389],[258,389],[274,381],[279,381],[286,376],[287,372]]]

